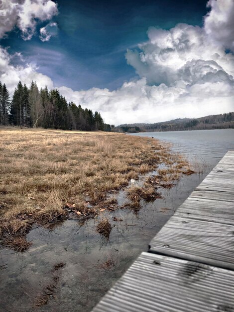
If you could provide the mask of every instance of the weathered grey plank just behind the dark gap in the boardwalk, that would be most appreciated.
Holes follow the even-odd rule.
[[[173,216],[152,239],[151,252],[234,270],[234,225]]]

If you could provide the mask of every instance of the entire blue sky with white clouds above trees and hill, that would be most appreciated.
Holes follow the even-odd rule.
[[[0,81],[106,123],[234,111],[234,0],[0,0]]]

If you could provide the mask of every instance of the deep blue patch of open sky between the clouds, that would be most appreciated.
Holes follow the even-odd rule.
[[[136,76],[125,59],[127,48],[147,39],[150,26],[170,29],[178,22],[202,25],[206,0],[94,1],[58,0],[57,35],[42,42],[38,36],[21,39],[11,31],[1,39],[10,53],[21,52],[58,87],[74,90],[119,88]],[[37,24],[39,28],[47,21]],[[19,59],[14,64],[22,63]]]

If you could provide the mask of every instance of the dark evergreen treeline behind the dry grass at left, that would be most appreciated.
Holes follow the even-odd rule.
[[[111,131],[99,112],[68,103],[56,89],[39,90],[34,81],[29,88],[19,81],[11,100],[5,84],[0,83],[0,125]]]

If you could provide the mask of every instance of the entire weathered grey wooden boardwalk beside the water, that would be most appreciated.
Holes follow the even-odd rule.
[[[234,312],[234,151],[93,311]]]

